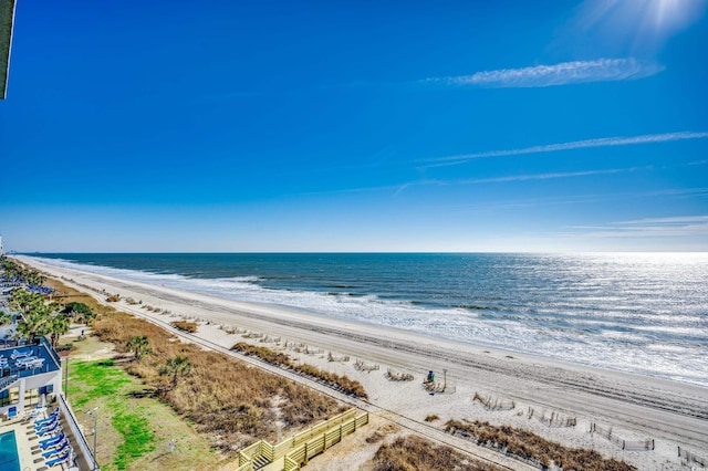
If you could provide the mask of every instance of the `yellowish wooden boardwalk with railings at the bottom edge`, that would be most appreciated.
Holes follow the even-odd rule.
[[[266,440],[259,440],[239,451],[239,467],[236,471],[253,471],[254,461],[261,458],[270,463],[284,458],[285,471],[299,470],[301,464],[339,443],[342,438],[354,433],[366,423],[368,423],[368,412],[350,409],[275,446]]]

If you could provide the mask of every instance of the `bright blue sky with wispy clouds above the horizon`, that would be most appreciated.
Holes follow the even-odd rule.
[[[706,0],[19,2],[18,251],[707,251]]]

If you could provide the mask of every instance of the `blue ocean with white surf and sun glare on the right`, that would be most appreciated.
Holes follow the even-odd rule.
[[[708,253],[35,257],[708,387]]]

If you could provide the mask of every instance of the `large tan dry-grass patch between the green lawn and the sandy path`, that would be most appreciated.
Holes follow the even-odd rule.
[[[153,353],[124,365],[143,379],[147,388],[204,433],[218,435],[215,447],[233,452],[258,439],[277,440],[272,422],[279,419],[283,432],[296,431],[341,412],[334,399],[282,377],[253,368],[243,362],[194,344],[177,342],[162,327],[129,314],[100,315],[94,333],[115,345],[118,353],[132,352],[134,336],[146,336]],[[191,365],[175,387],[165,387],[159,371],[170,358],[183,356]],[[173,371],[174,375],[174,371]]]

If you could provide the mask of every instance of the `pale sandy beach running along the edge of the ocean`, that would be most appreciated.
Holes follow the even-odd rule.
[[[442,423],[468,419],[510,425],[565,446],[597,450],[638,469],[687,469],[678,457],[678,447],[702,457],[708,454],[707,388],[127,282],[46,265],[33,258],[17,259],[101,301],[105,299],[100,294],[104,291],[119,294],[123,300],[139,300],[140,305],[125,301],[113,304],[159,325],[168,327],[180,318],[196,321],[200,325],[191,341],[205,347],[223,350],[238,342],[249,342],[282,348],[293,358],[347,375],[364,385],[367,401],[304,378],[295,379],[393,420],[406,430],[509,469],[523,469],[523,464],[445,433]],[[162,312],[144,306],[159,307]],[[389,370],[410,374],[415,379],[393,381],[387,377]],[[435,371],[440,386],[437,393],[423,387],[429,370]],[[282,370],[275,373],[287,376]],[[476,396],[496,404],[497,410],[476,400]],[[430,415],[439,419],[426,422]],[[595,432],[591,433],[593,426]],[[612,440],[605,437],[610,430]],[[652,442],[654,449],[635,451],[639,442]]]

